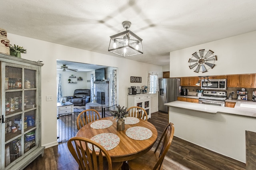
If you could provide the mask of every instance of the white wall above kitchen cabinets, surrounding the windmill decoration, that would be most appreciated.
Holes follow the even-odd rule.
[[[256,31],[170,52],[170,77],[256,73]],[[217,55],[216,66],[206,73],[195,73],[188,60],[200,49]]]

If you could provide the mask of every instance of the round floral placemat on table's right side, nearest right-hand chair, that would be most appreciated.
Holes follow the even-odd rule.
[[[146,140],[152,136],[152,131],[145,127],[130,127],[125,133],[126,136],[134,140]]]

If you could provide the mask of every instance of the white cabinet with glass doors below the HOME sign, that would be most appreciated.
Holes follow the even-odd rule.
[[[149,94],[128,95],[128,108],[132,106],[142,107],[148,114],[148,119],[151,117],[151,99]]]

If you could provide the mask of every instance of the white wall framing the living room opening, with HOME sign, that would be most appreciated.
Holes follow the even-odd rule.
[[[80,63],[106,65],[117,67],[117,101],[119,105],[128,105],[128,87],[147,84],[148,70],[161,73],[162,67],[127,58],[95,53],[55,43],[45,42],[14,34],[8,34],[11,44],[21,45],[27,49],[22,58],[32,61],[43,60],[42,66],[42,145],[54,146],[57,143],[57,98],[56,98],[56,59]],[[106,44],[107,46],[108,44]],[[107,49],[107,48],[106,48]],[[142,83],[130,83],[130,76],[142,77]],[[87,77],[87,79],[89,79]],[[52,95],[53,101],[46,101],[46,96]]]

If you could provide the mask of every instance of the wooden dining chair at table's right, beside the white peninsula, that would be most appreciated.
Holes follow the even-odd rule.
[[[130,170],[160,170],[162,169],[162,163],[164,156],[166,155],[174,135],[174,125],[169,123],[158,142],[156,149],[148,151],[146,154],[135,158],[133,160],[128,160],[128,166]],[[161,145],[160,151],[158,147]]]

